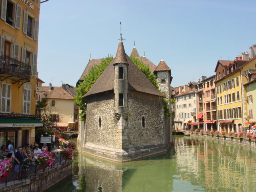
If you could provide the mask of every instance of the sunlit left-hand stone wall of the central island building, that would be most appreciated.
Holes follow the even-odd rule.
[[[98,118],[102,120],[98,127]],[[84,130],[85,144],[118,148],[116,140],[118,120],[114,116],[114,93],[104,92],[87,98],[87,113]]]

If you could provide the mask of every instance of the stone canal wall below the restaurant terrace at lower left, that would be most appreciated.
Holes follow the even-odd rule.
[[[44,192],[51,186],[60,182],[72,174],[72,160],[62,162],[55,168],[46,169],[45,172],[38,172],[36,176],[31,176],[26,180],[8,182],[1,184],[1,192]]]

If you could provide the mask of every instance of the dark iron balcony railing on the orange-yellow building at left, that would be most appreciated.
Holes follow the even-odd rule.
[[[0,74],[30,80],[31,66],[9,56],[0,56]]]

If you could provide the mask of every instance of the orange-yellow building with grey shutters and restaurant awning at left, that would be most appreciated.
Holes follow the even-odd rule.
[[[32,144],[40,0],[0,1],[0,145]]]

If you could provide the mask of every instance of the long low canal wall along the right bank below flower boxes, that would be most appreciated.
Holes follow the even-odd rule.
[[[248,138],[230,138],[230,137],[224,137],[224,136],[217,136],[217,135],[211,135],[211,134],[194,134],[190,133],[190,136],[194,137],[205,137],[208,139],[214,139],[214,140],[222,140],[224,142],[230,142],[230,143],[236,143],[244,146],[250,146],[252,148],[256,148],[256,141],[249,140]]]

